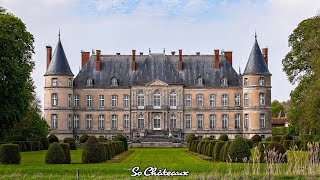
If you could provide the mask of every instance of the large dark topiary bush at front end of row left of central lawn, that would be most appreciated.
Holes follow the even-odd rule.
[[[90,136],[83,147],[82,163],[102,163],[105,159],[104,146],[98,142],[96,137]]]

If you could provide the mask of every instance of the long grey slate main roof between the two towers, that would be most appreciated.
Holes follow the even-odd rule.
[[[213,55],[183,55],[182,59],[183,70],[179,71],[179,55],[137,55],[136,71],[132,71],[131,55],[101,55],[101,69],[96,71],[96,55],[92,55],[74,79],[74,87],[86,88],[86,80],[91,78],[93,88],[113,88],[114,77],[122,87],[146,85],[156,79],[167,84],[197,86],[199,77],[203,78],[204,87],[220,87],[224,76],[229,86],[239,86],[239,75],[223,56],[220,69],[214,68]]]

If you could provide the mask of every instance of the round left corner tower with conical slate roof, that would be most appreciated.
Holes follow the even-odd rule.
[[[58,138],[61,139],[68,135],[70,137],[73,129],[73,73],[61,44],[60,32],[53,56],[51,46],[46,48],[44,118],[50,126],[51,133],[59,134]]]

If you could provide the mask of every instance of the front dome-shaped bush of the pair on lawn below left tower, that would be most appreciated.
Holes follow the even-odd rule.
[[[53,142],[46,154],[46,164],[63,164],[66,158],[64,156],[63,148],[59,143]]]

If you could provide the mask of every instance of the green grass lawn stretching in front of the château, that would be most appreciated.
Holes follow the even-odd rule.
[[[20,165],[0,165],[0,179],[75,179],[77,168],[80,169],[80,179],[129,179],[135,166],[139,166],[141,171],[149,166],[166,168],[168,171],[189,171],[188,177],[176,177],[179,179],[238,179],[238,174],[244,176],[249,167],[242,163],[204,160],[185,148],[133,148],[101,164],[81,164],[82,150],[71,152],[72,162],[67,165],[45,164],[46,151],[22,152]],[[261,171],[263,169],[264,165],[261,164]],[[255,178],[260,179],[261,176]],[[284,177],[294,178],[288,175],[276,179]]]

